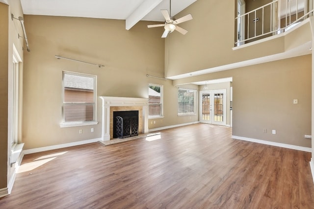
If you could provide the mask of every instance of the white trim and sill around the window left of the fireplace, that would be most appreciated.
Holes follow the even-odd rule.
[[[64,122],[64,115],[63,115],[63,98],[64,98],[64,86],[63,86],[63,74],[72,74],[72,75],[81,75],[81,76],[88,76],[94,78],[94,120],[93,121],[73,121],[73,122]],[[71,72],[71,71],[62,71],[62,98],[61,98],[61,107],[62,107],[62,122],[59,124],[60,128],[67,128],[67,127],[75,127],[75,126],[86,126],[86,125],[97,125],[97,76],[79,72]]]

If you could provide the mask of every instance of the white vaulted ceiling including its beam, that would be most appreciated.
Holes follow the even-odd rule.
[[[175,16],[196,0],[171,0]],[[126,20],[126,29],[139,21],[164,22],[160,9],[170,8],[169,0],[21,0],[26,15],[48,15]]]

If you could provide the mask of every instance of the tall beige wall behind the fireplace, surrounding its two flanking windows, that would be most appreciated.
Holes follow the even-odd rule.
[[[71,17],[25,16],[31,52],[25,53],[24,125],[25,149],[101,137],[102,103],[97,100],[98,125],[60,128],[62,70],[97,75],[98,96],[148,98],[148,84],[163,85],[164,117],[149,128],[197,121],[198,116],[177,116],[177,88],[164,77],[162,28],[150,22],[125,29],[125,21]],[[58,60],[54,55],[105,67]],[[95,132],[91,133],[90,128]],[[82,129],[83,133],[78,134]]]

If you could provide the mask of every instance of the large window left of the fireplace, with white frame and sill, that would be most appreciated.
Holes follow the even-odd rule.
[[[96,122],[96,76],[63,71],[61,127]],[[94,122],[94,123],[91,123]]]

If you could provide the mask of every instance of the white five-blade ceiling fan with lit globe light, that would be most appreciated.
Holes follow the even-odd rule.
[[[170,15],[168,13],[168,10],[166,9],[161,9],[161,14],[165,18],[165,23],[163,24],[149,24],[147,27],[161,27],[163,26],[165,28],[165,31],[163,32],[161,38],[166,38],[169,33],[172,33],[174,30],[182,33],[185,35],[187,33],[187,30],[183,29],[182,27],[179,27],[177,24],[183,23],[185,21],[192,20],[193,17],[191,14],[185,15],[182,18],[179,18],[176,20],[174,17],[171,17],[171,0],[170,0]]]

